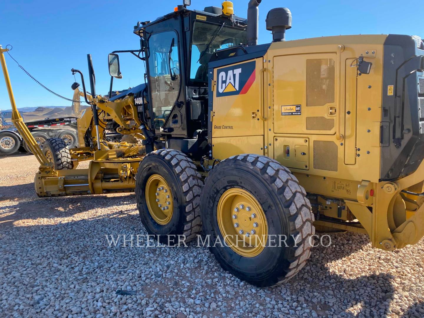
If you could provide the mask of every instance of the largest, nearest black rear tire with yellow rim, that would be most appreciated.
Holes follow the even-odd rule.
[[[260,287],[279,285],[306,264],[315,233],[310,208],[296,177],[266,156],[223,160],[202,189],[210,251],[224,270]]]

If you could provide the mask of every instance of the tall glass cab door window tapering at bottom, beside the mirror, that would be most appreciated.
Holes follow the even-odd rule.
[[[178,98],[181,81],[178,36],[174,31],[148,38],[148,67],[154,127],[159,129]]]

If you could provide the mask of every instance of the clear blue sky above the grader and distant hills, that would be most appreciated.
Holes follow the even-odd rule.
[[[2,1],[0,44],[13,45],[11,55],[42,84],[72,97],[72,67],[87,74],[86,54],[91,53],[96,73],[96,91],[109,90],[107,54],[113,50],[138,49],[138,37],[132,33],[137,21],[154,20],[173,11],[182,0],[156,1]],[[235,0],[234,12],[246,17],[247,0]],[[220,6],[221,1],[192,0],[191,9]],[[263,0],[259,6],[259,43],[271,42],[265,29],[267,12],[285,6],[292,11],[293,28],[287,39],[302,39],[339,34],[398,33],[424,38],[424,25],[418,12],[424,1],[275,1]],[[421,18],[422,19],[422,18]],[[18,107],[70,106],[70,102],[42,89],[6,54],[6,62]],[[123,79],[114,89],[125,89],[143,82],[142,61],[121,54]],[[80,82],[79,76],[77,81]],[[88,82],[88,77],[86,77]],[[87,86],[89,84],[87,83]],[[10,109],[6,86],[0,80],[0,109]]]

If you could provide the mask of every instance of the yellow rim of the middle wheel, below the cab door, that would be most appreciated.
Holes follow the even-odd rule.
[[[170,187],[162,176],[154,174],[149,177],[145,198],[153,220],[160,225],[167,224],[173,214],[173,199]]]

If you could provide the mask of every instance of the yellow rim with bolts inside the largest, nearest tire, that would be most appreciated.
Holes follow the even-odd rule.
[[[243,189],[226,190],[217,209],[218,226],[227,245],[244,257],[255,257],[265,248],[268,222],[257,199]]]

